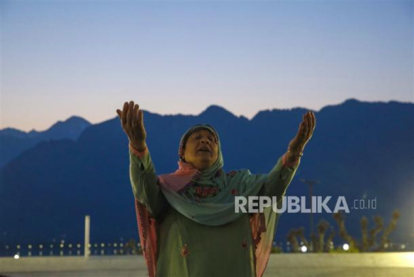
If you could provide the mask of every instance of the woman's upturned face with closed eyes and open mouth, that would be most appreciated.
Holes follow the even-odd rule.
[[[218,145],[208,130],[193,133],[186,142],[184,159],[194,167],[204,170],[218,158]]]

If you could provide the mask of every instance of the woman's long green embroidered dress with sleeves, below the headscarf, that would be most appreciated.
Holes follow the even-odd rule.
[[[157,234],[157,277],[255,276],[248,214],[219,226],[197,223],[167,202],[157,183],[149,152],[142,158],[130,152],[130,162],[134,196],[160,222]],[[284,195],[298,165],[282,167],[282,158],[279,158],[258,195]],[[226,177],[231,178],[231,174]],[[192,189],[194,194],[197,183],[188,189]]]

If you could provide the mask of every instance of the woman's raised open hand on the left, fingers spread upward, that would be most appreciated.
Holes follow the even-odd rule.
[[[144,112],[140,110],[140,106],[134,104],[134,101],[130,101],[129,104],[125,102],[123,110],[116,110],[116,113],[129,143],[138,151],[144,151],[147,148],[147,133],[144,128]]]

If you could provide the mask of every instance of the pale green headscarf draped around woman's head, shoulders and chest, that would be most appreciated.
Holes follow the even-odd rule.
[[[179,149],[180,158],[184,151],[186,138],[192,133],[202,129],[210,131],[217,139],[217,160],[203,171],[190,171],[189,167],[191,166],[188,163],[179,161],[179,170],[172,174],[160,176],[161,189],[171,206],[189,219],[210,226],[223,225],[243,215],[242,213],[234,212],[235,196],[248,197],[258,195],[266,181],[267,174],[251,174],[248,169],[241,169],[232,171],[231,174],[225,174],[222,170],[224,161],[217,132],[206,124],[196,125],[183,135]],[[183,159],[181,158],[181,160]],[[186,172],[189,173],[186,175]],[[175,175],[174,177],[177,177],[176,179],[184,179],[187,177],[188,180],[190,176],[192,178],[187,184],[181,183],[177,186],[177,183],[174,183],[174,180],[169,178],[173,177],[171,175]],[[212,197],[196,199],[196,195],[191,190],[191,187],[195,184],[216,187],[218,193]]]

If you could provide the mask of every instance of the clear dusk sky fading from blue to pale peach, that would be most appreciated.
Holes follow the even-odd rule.
[[[253,117],[413,102],[413,1],[7,1],[0,128],[98,123],[124,101]]]

